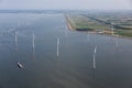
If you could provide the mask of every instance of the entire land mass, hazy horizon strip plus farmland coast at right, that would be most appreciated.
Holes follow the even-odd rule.
[[[0,10],[0,13],[65,14],[69,30],[132,37],[132,10]]]

